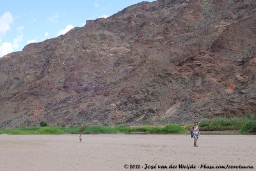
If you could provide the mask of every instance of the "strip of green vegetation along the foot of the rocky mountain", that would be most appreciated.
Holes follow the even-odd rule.
[[[82,124],[80,127],[61,127],[48,126],[45,121],[40,126],[26,127],[23,124],[20,128],[6,129],[0,128],[0,134],[26,135],[26,134],[72,134],[72,133],[155,133],[155,134],[184,134],[190,131],[193,124],[184,126],[169,124],[166,126],[87,126]],[[241,133],[256,133],[256,114],[246,114],[243,117],[216,117],[214,119],[202,119],[200,121],[201,131],[223,131],[240,130]]]

